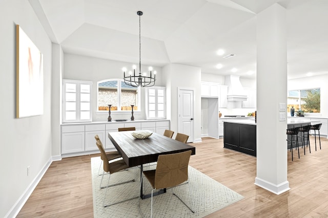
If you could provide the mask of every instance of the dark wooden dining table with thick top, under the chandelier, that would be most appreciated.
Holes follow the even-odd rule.
[[[140,177],[142,176],[143,164],[157,162],[159,155],[175,154],[191,150],[191,155],[196,154],[196,148],[186,143],[179,142],[169,137],[153,133],[147,139],[136,139],[131,133],[135,131],[108,133],[108,138],[114,144],[119,154],[129,167],[140,166]],[[141,184],[142,187],[142,184]],[[165,189],[154,193],[154,195],[166,192]],[[150,194],[142,193],[140,198],[149,198]]]

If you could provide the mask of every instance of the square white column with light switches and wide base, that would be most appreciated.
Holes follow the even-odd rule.
[[[273,193],[289,190],[286,121],[286,11],[278,4],[257,15],[257,169],[255,184]],[[295,157],[296,158],[296,157]]]

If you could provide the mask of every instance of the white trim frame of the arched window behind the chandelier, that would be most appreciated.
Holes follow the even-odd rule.
[[[117,81],[117,111],[111,111],[111,113],[114,113],[114,114],[118,114],[118,113],[129,113],[131,114],[131,111],[122,111],[121,110],[121,82],[124,82],[124,79],[120,79],[120,78],[111,78],[111,79],[103,79],[103,80],[100,80],[100,81],[97,81],[97,111],[96,113],[99,114],[99,113],[108,113],[108,111],[100,111],[99,110],[99,83],[101,82],[106,82],[106,81]],[[137,102],[138,102],[138,105],[135,105],[137,106],[138,110],[135,110],[133,109],[133,112],[141,112],[141,108],[140,108],[140,101],[141,101],[141,89],[140,89],[140,86],[137,88]]]

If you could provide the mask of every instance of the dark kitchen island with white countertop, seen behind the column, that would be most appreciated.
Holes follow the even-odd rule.
[[[310,125],[309,121],[288,121],[287,128]],[[226,120],[223,122],[223,147],[256,157],[255,120]],[[289,136],[290,137],[290,136]],[[306,139],[305,139],[306,140]],[[300,142],[299,142],[300,143]],[[290,148],[288,143],[288,148]],[[295,147],[296,145],[293,145]]]

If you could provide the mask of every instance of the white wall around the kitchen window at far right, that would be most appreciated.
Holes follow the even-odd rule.
[[[288,80],[288,90],[320,88],[320,114],[311,116],[328,117],[328,74]],[[309,114],[306,114],[309,115]],[[305,116],[306,116],[305,115]]]

